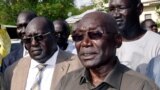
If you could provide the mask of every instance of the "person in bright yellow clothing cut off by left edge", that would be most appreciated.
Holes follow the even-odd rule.
[[[8,32],[0,26],[0,67],[2,66],[2,60],[10,53],[10,49],[10,36],[8,35]]]

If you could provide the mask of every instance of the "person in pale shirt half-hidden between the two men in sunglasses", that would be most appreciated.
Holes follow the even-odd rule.
[[[57,44],[60,49],[76,54],[74,43],[68,40],[70,35],[70,28],[68,23],[64,20],[55,20],[53,21],[53,25],[55,27]]]

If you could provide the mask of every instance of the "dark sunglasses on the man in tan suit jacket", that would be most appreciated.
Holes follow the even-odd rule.
[[[45,38],[45,36],[47,36],[49,34],[51,34],[51,32],[48,32],[48,33],[45,33],[45,34],[41,34],[41,35],[32,36],[32,37],[26,37],[26,38],[23,38],[22,41],[24,43],[26,43],[26,44],[27,43],[31,43],[31,41],[33,39],[36,40],[36,41],[42,41]]]

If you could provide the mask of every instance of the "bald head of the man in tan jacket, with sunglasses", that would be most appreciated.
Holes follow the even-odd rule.
[[[29,22],[23,42],[31,58],[44,63],[55,53],[57,42],[53,32],[52,22],[45,17],[36,17]]]

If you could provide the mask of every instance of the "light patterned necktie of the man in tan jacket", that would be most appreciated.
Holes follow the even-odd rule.
[[[44,70],[45,67],[46,67],[46,65],[44,65],[44,64],[37,65],[37,68],[39,71],[36,75],[36,80],[35,80],[33,86],[31,87],[31,90],[40,90],[40,84],[41,84],[41,80],[42,80],[42,71]]]

